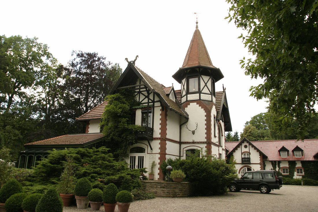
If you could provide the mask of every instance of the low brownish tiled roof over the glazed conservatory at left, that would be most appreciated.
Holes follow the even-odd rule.
[[[72,134],[63,135],[55,138],[49,138],[42,141],[36,141],[25,145],[72,145],[72,144],[84,144],[86,142],[102,138],[103,134]],[[25,146],[24,145],[24,146]]]

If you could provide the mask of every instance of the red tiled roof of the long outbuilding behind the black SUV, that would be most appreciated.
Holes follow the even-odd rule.
[[[267,156],[267,160],[315,160],[315,155],[318,154],[318,139],[305,139],[305,140],[273,140],[273,141],[250,141],[260,151],[264,152]],[[233,152],[235,146],[239,142],[225,142],[225,146]],[[292,150],[298,146],[303,150],[304,156],[301,158],[295,158],[292,154],[289,154],[287,158],[281,158],[279,150],[285,147],[292,152]]]

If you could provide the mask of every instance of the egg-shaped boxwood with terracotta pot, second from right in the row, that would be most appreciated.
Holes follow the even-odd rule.
[[[116,207],[117,186],[114,183],[108,184],[102,194],[104,208],[106,212],[114,212]]]

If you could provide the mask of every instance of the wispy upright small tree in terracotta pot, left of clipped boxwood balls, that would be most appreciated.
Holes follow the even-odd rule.
[[[61,174],[60,182],[58,185],[58,192],[63,200],[63,206],[67,207],[71,205],[73,198],[74,187],[76,178],[74,177],[75,166],[73,164],[73,158],[66,156],[66,162],[64,164],[64,171]]]

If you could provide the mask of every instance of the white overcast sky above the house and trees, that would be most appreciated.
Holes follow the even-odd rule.
[[[267,103],[250,97],[249,88],[261,80],[245,76],[239,60],[251,57],[238,39],[243,32],[224,18],[230,5],[221,1],[2,1],[0,34],[38,37],[66,65],[73,50],[98,52],[125,70],[128,60],[165,86],[182,66],[196,15],[205,46],[224,78],[232,129],[266,112]]]

